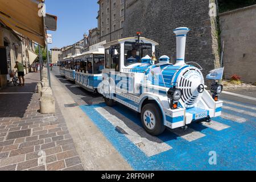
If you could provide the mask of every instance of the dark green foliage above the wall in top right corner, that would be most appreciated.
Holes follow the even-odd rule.
[[[220,13],[255,4],[256,0],[218,0],[218,7]]]

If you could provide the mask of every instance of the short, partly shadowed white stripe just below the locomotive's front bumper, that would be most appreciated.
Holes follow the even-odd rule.
[[[187,130],[183,130],[179,128],[179,129],[174,129],[170,131],[178,135],[179,137],[187,140],[188,142],[192,142],[194,140],[197,140],[206,136],[205,134],[200,133],[199,131],[193,130],[191,128],[188,128]]]

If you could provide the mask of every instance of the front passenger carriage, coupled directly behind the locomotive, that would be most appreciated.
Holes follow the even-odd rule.
[[[75,81],[77,85],[96,92],[102,81],[102,69],[104,69],[104,48],[85,52],[74,58]]]

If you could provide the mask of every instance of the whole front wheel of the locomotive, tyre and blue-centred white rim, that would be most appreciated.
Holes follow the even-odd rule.
[[[163,115],[156,104],[146,104],[142,108],[141,121],[144,129],[151,135],[160,135],[166,129],[163,124]]]

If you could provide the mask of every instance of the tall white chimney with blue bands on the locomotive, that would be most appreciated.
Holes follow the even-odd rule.
[[[176,64],[175,66],[185,65],[185,47],[186,47],[186,38],[187,34],[190,31],[187,27],[180,27],[174,30],[176,35]]]

